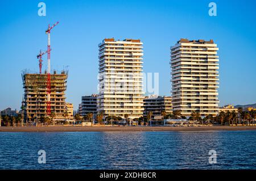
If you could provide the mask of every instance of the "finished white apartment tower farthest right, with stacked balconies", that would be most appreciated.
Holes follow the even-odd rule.
[[[180,39],[171,47],[172,106],[181,115],[217,115],[217,50],[213,40]]]

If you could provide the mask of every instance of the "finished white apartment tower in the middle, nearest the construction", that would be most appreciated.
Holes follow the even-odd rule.
[[[97,111],[130,119],[143,115],[141,40],[104,39],[99,47]]]

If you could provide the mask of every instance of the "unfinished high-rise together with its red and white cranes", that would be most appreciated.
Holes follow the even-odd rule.
[[[39,73],[30,73],[24,70],[23,81],[23,112],[26,123],[36,122],[45,117],[54,120],[65,120],[68,115],[67,104],[65,102],[65,91],[67,90],[68,70],[51,73],[51,45],[50,32],[59,22],[48,26],[47,51],[40,50],[37,58],[39,61]],[[47,54],[47,70],[42,73],[42,56]]]

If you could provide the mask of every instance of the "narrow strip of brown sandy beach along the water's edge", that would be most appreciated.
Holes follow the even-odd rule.
[[[256,126],[210,126],[210,127],[0,127],[0,132],[160,132],[160,131],[250,131]]]

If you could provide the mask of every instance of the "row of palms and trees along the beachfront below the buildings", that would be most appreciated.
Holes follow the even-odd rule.
[[[162,121],[164,119],[187,119],[187,117],[181,115],[181,111],[173,111],[172,113],[166,113],[166,111],[161,111],[160,115],[162,116]],[[65,118],[63,120],[57,121],[56,124],[67,124],[66,118],[68,116],[68,112],[63,113],[63,117]],[[126,121],[126,124],[131,124],[131,121],[136,121],[139,125],[144,125],[148,124],[149,121],[152,120],[153,113],[150,111],[147,113],[146,116],[141,116],[139,118],[135,119],[129,119],[129,115],[125,114],[123,119],[120,116],[107,116],[104,119],[104,115],[102,113],[96,115],[96,122],[98,124],[103,124],[105,123],[110,124],[111,122],[118,123],[119,121]],[[52,112],[49,116],[40,116],[38,119],[34,119],[34,122],[36,120],[36,125],[38,123],[41,123],[43,125],[55,125],[55,117],[56,114]],[[89,112],[85,116],[81,116],[79,113],[76,113],[74,116],[75,121],[89,121],[93,123],[93,113]],[[251,110],[251,111],[243,111],[243,109],[240,107],[238,108],[238,111],[227,111],[223,112],[221,111],[217,116],[212,116],[212,115],[207,115],[204,118],[200,116],[199,112],[193,111],[191,113],[191,116],[188,118],[188,120],[192,121],[199,121],[201,123],[216,123],[220,125],[251,125],[255,124],[256,120],[256,111]],[[17,116],[8,116],[8,115],[3,115],[1,116],[1,125],[2,126],[20,126],[22,125],[22,115],[18,114]]]

